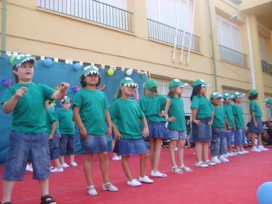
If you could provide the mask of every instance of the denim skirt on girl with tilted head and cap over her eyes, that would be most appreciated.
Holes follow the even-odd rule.
[[[142,138],[137,140],[117,140],[113,149],[114,153],[121,156],[127,156],[131,154],[142,154],[147,152],[146,145]]]

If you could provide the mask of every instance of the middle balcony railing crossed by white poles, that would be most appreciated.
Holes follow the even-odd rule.
[[[172,45],[175,44],[176,28],[151,20],[151,19],[147,19],[147,25],[148,25],[148,38],[152,38],[152,39],[162,41],[165,43],[170,43]],[[179,47],[182,46],[182,34],[183,34],[183,31],[178,29],[176,45]],[[189,49],[190,34],[185,32],[184,38],[185,39],[184,39],[183,47],[186,49]],[[198,36],[192,35],[192,38],[191,38],[192,51],[200,52],[199,39],[200,38]]]

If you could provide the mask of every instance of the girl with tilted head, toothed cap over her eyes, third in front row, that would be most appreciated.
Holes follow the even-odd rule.
[[[142,136],[148,137],[148,125],[139,104],[129,98],[137,86],[129,77],[122,79],[117,93],[117,100],[110,107],[111,119],[116,119],[118,127],[117,129],[113,124],[117,140],[113,152],[122,156],[122,166],[128,178],[127,184],[129,186],[140,186],[140,182],[153,183],[153,180],[145,175],[147,149]],[[141,119],[144,126],[141,132],[138,119]],[[140,155],[139,180],[134,179],[131,174],[129,158],[132,154]]]

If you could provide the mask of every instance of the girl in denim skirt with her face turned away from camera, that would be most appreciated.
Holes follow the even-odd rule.
[[[143,137],[143,140],[150,143],[151,176],[166,177],[166,174],[158,171],[158,164],[162,142],[170,138],[165,125],[170,99],[158,94],[157,87],[158,83],[156,80],[147,79],[144,83],[144,96],[137,102],[146,117],[149,129],[149,136]],[[164,113],[161,113],[163,109]]]

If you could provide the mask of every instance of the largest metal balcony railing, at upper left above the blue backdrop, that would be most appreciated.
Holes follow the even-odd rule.
[[[37,7],[133,32],[133,13],[97,0],[37,0]]]

